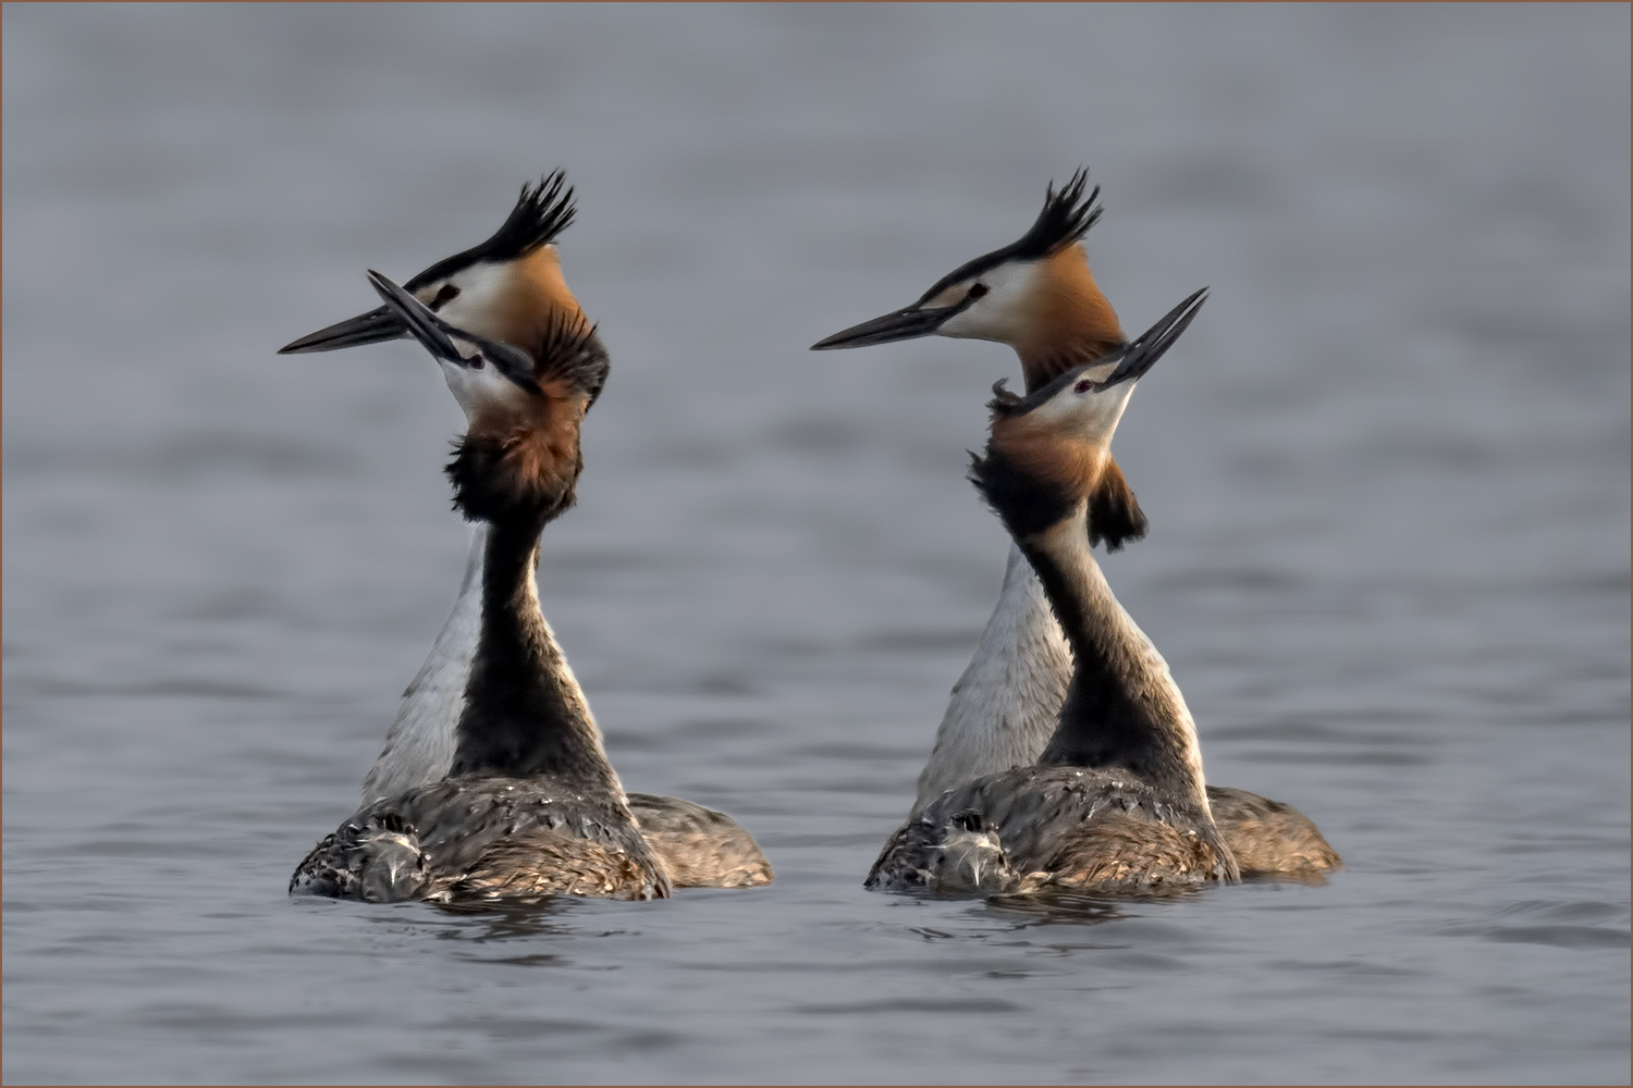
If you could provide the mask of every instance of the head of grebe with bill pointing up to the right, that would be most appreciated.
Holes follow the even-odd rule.
[[[1207,300],[1195,292],[1127,347],[1076,365],[1026,396],[993,387],[986,453],[970,480],[1024,540],[1088,504],[1089,542],[1115,550],[1145,532],[1145,515],[1110,458],[1112,434],[1135,383],[1186,331]]]

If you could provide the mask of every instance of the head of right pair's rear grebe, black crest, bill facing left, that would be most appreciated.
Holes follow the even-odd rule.
[[[1096,285],[1081,245],[1101,217],[1101,189],[1084,196],[1088,181],[1088,171],[1078,170],[1060,192],[1050,183],[1043,210],[1017,241],[942,276],[913,305],[834,333],[812,351],[952,336],[1009,344],[1022,360],[1042,365],[1047,357],[1092,359],[1120,346],[1117,313]],[[1030,372],[1027,377],[1035,385]]]

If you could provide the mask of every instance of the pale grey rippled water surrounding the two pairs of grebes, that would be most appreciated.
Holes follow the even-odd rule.
[[[1628,8],[5,7],[5,1080],[1628,1077]],[[1326,887],[870,896],[1004,538],[991,344],[807,344],[1106,186],[1107,561]],[[614,372],[545,608],[758,892],[292,902],[461,574],[416,347],[555,165]]]

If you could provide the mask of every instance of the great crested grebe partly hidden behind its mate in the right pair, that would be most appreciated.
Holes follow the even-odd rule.
[[[1063,372],[1127,346],[1117,312],[1089,271],[1083,235],[1099,220],[1099,186],[1079,170],[1017,241],[939,279],[910,307],[864,321],[812,347],[862,347],[919,336],[988,339],[1021,359],[1029,393]],[[1117,463],[1106,457],[1089,496],[1091,543],[1107,551],[1145,535],[1146,519]],[[1071,649],[1037,574],[1011,546],[998,607],[952,688],[918,780],[913,814],[972,778],[1026,767],[1055,732],[1071,677]],[[1315,824],[1292,806],[1244,789],[1208,786],[1213,819],[1251,876],[1315,878],[1339,866]]]

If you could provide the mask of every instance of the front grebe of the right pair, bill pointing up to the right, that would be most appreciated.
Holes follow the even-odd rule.
[[[1071,644],[1071,682],[1035,765],[973,778],[923,806],[874,863],[869,887],[1163,892],[1239,879],[1208,811],[1186,700],[1089,543],[1128,395],[1202,300],[1190,295],[1128,347],[1026,398],[993,387],[991,437],[970,480],[1037,571]]]

